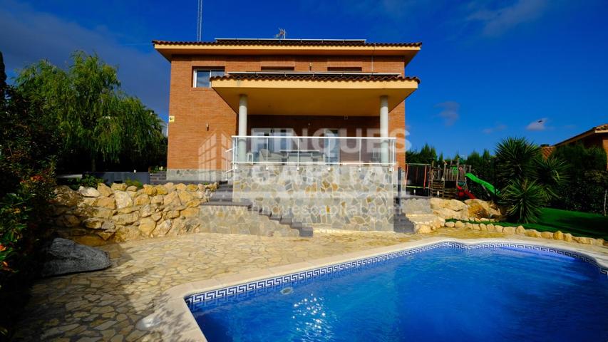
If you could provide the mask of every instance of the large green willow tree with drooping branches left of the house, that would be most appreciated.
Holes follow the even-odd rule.
[[[158,115],[123,93],[117,69],[96,55],[73,53],[67,70],[39,61],[19,73],[16,86],[55,119],[64,161],[84,157],[95,171],[98,160],[133,165],[166,145]]]

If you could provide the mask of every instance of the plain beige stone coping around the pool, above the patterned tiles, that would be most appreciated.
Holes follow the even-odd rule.
[[[357,252],[339,254],[332,257],[324,257],[311,261],[302,261],[296,264],[287,264],[282,266],[267,267],[257,269],[255,271],[247,271],[237,274],[229,274],[226,276],[218,276],[202,281],[193,281],[191,283],[180,284],[173,286],[163,292],[155,301],[155,311],[150,316],[143,318],[138,323],[138,328],[159,331],[163,338],[168,338],[169,341],[207,341],[204,333],[201,331],[194,315],[187,306],[185,299],[188,296],[195,294],[203,294],[210,291],[228,290],[235,288],[237,285],[244,285],[261,281],[264,279],[272,279],[280,276],[299,274],[303,271],[312,271],[321,269],[326,266],[337,266],[339,264],[348,263],[349,261],[357,261],[359,259],[368,259],[372,257],[388,256],[396,252],[406,252],[412,249],[420,252],[420,247],[431,247],[436,244],[453,242],[462,244],[467,247],[479,244],[521,244],[522,246],[535,246],[554,249],[555,251],[548,252],[570,252],[577,254],[578,257],[587,257],[584,261],[594,262],[599,267],[602,273],[608,271],[608,252],[600,253],[589,249],[577,248],[566,244],[557,244],[548,239],[508,239],[508,238],[479,238],[479,239],[458,239],[450,237],[431,237],[428,239],[417,240],[413,242],[405,242],[402,244],[393,244],[386,247],[377,247],[373,249],[365,249]],[[482,246],[483,247],[483,246]],[[431,247],[435,248],[435,247]],[[563,254],[563,253],[562,253]],[[349,267],[346,267],[348,269]],[[608,275],[608,274],[607,274]],[[272,286],[272,285],[271,285]],[[245,291],[249,291],[249,287]],[[226,291],[227,292],[227,291]],[[241,293],[241,292],[239,292]],[[230,294],[225,294],[230,295]]]

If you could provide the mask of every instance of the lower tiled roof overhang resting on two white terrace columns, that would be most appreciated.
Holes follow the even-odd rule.
[[[378,116],[380,97],[392,110],[418,88],[418,80],[265,80],[215,78],[211,87],[238,113],[239,97],[247,95],[249,115]]]

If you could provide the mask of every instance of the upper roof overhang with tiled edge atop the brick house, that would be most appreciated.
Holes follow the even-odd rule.
[[[405,63],[420,51],[416,44],[362,44],[362,45],[297,45],[248,43],[197,43],[153,41],[154,48],[171,61],[175,55],[316,55],[316,56],[403,56]]]

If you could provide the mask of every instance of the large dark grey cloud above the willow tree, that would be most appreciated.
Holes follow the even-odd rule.
[[[145,50],[124,46],[105,28],[86,28],[27,5],[1,0],[0,32],[7,71],[43,58],[66,67],[73,51],[97,53],[106,63],[118,66],[118,78],[126,93],[137,96],[156,113],[168,114],[170,66],[153,50],[152,43]]]

